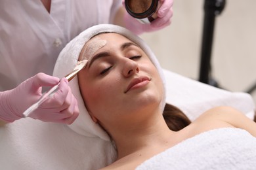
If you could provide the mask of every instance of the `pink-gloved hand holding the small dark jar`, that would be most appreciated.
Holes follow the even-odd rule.
[[[157,31],[171,24],[171,17],[173,16],[173,0],[159,0],[161,7],[158,9],[156,18],[150,24],[142,24],[136,18],[133,18],[125,10],[124,22],[125,27],[133,33],[139,35],[144,32]],[[123,0],[124,5],[124,0]]]

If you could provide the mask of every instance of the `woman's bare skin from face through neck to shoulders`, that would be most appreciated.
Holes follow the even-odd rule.
[[[135,169],[148,158],[210,129],[238,127],[256,136],[255,122],[230,107],[207,110],[189,126],[170,130],[160,109],[163,84],[144,51],[122,35],[102,33],[85,43],[80,59],[95,40],[106,44],[93,53],[78,79],[91,118],[117,147],[117,160],[104,169]]]

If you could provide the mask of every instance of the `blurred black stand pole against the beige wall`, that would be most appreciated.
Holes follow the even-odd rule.
[[[225,3],[225,0],[205,0],[204,3],[205,15],[203,20],[199,81],[211,86],[218,86],[217,82],[211,78],[211,48],[213,45],[215,17],[221,14]]]

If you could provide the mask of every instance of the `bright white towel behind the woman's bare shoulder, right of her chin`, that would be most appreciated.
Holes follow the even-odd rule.
[[[218,106],[234,107],[253,120],[255,103],[248,93],[229,92],[167,70],[163,70],[163,73],[167,88],[166,102],[179,107],[190,120]]]

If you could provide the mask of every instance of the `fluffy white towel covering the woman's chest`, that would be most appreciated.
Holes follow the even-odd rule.
[[[144,161],[137,170],[256,169],[256,138],[243,129],[213,129]]]

